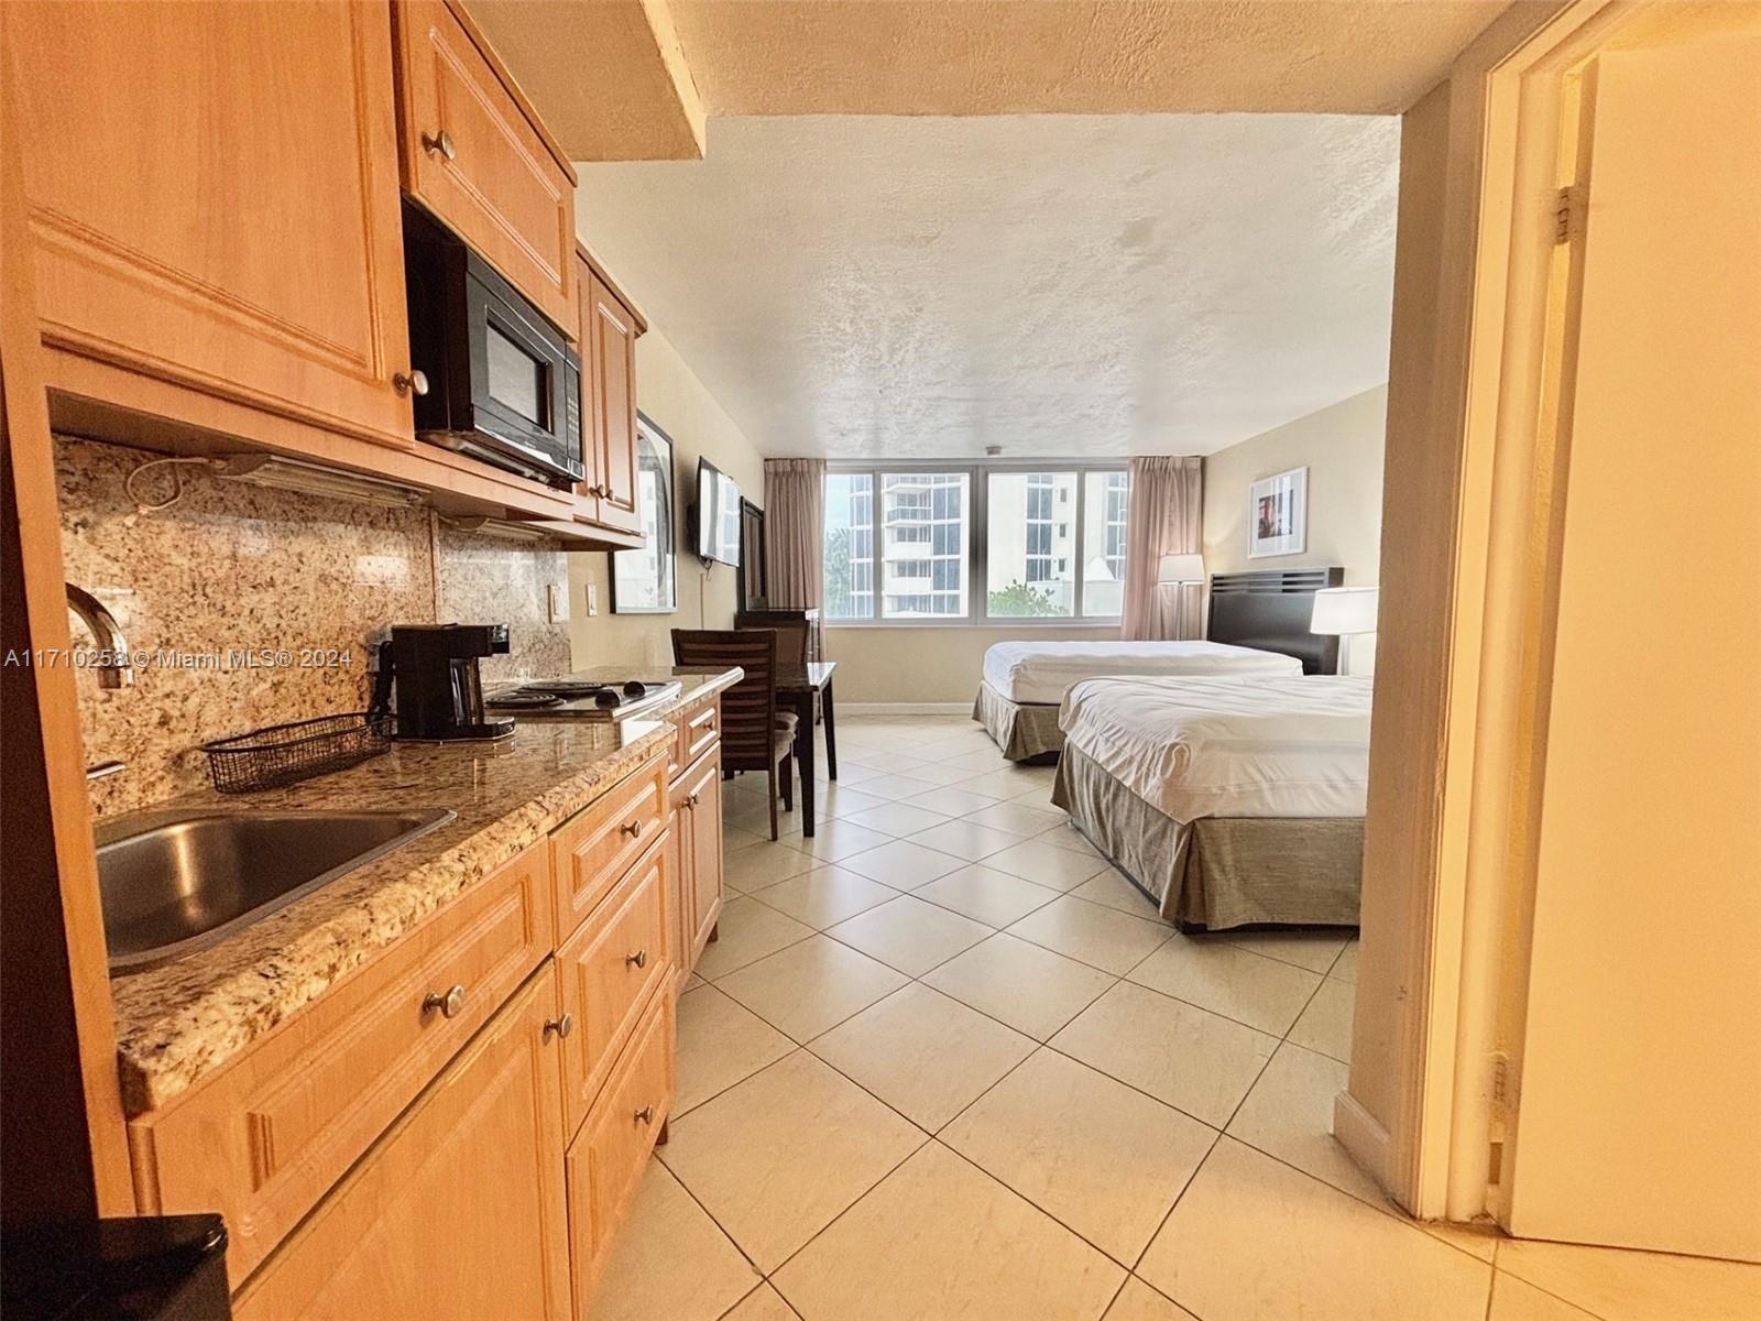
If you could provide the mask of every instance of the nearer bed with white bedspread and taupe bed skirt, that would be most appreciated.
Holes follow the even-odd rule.
[[[1370,680],[1092,678],[1053,801],[1182,926],[1356,925]]]

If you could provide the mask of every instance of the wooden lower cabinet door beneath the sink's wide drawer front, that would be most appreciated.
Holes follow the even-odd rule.
[[[567,1317],[556,1004],[546,963],[264,1263],[239,1321]]]

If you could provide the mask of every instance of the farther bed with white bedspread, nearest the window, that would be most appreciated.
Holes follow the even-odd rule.
[[[1293,676],[1293,655],[1212,641],[1007,641],[984,652],[972,719],[1013,761],[1064,747],[1058,705],[1072,683],[1097,675]]]

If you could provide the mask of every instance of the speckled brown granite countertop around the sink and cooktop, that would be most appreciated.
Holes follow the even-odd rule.
[[[673,703],[629,720],[519,722],[500,743],[394,743],[380,757],[287,789],[153,803],[148,810],[446,807],[458,817],[210,949],[114,978],[125,1111],[141,1115],[187,1092],[544,838],[666,745],[667,713],[720,692],[740,671],[650,668],[636,676],[678,678],[683,687]],[[572,678],[625,680],[630,669]]]

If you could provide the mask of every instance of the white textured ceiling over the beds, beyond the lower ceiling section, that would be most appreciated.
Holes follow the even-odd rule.
[[[766,454],[1212,453],[1388,379],[1400,123],[711,120],[581,236]]]

